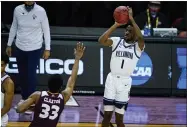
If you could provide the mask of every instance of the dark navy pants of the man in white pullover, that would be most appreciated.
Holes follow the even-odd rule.
[[[16,59],[19,71],[19,85],[22,99],[27,99],[36,89],[36,69],[39,64],[41,49],[22,51],[16,48]]]

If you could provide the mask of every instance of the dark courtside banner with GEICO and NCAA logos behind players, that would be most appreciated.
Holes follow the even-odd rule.
[[[74,63],[74,48],[76,41],[52,41],[49,59],[40,59],[37,69],[38,89],[47,88],[47,79],[52,74],[61,74],[64,87],[72,72]],[[78,78],[75,93],[103,93],[107,74],[110,72],[111,48],[103,47],[98,42],[84,42],[86,51],[79,62]],[[175,57],[174,57],[175,56]],[[131,75],[132,88],[177,88],[186,89],[186,48],[183,45],[172,47],[170,44],[147,43],[138,64]],[[172,76],[172,70],[178,76]],[[16,58],[10,58],[6,71],[13,77],[16,86],[18,69]],[[175,83],[171,82],[172,78]]]

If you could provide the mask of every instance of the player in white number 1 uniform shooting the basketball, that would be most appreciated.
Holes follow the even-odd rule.
[[[117,126],[125,127],[123,116],[129,101],[131,74],[144,50],[144,38],[133,19],[132,9],[129,7],[128,12],[130,23],[119,24],[115,22],[99,38],[99,43],[112,47],[111,72],[105,82],[103,99],[105,112],[102,127],[109,127],[113,111],[115,111]],[[124,39],[120,37],[110,38],[112,32],[122,25],[125,25]]]

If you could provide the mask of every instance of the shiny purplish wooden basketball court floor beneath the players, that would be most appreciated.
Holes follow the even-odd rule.
[[[8,127],[28,127],[33,115],[18,114],[14,106],[9,114]],[[186,127],[185,98],[131,97],[124,116],[126,127]],[[58,127],[101,127],[103,105],[101,96],[73,96],[60,116]],[[111,127],[116,127],[115,118]]]

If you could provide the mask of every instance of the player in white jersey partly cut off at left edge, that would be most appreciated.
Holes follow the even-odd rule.
[[[5,72],[9,57],[1,53],[1,127],[8,124],[8,115],[14,97],[14,83]]]

